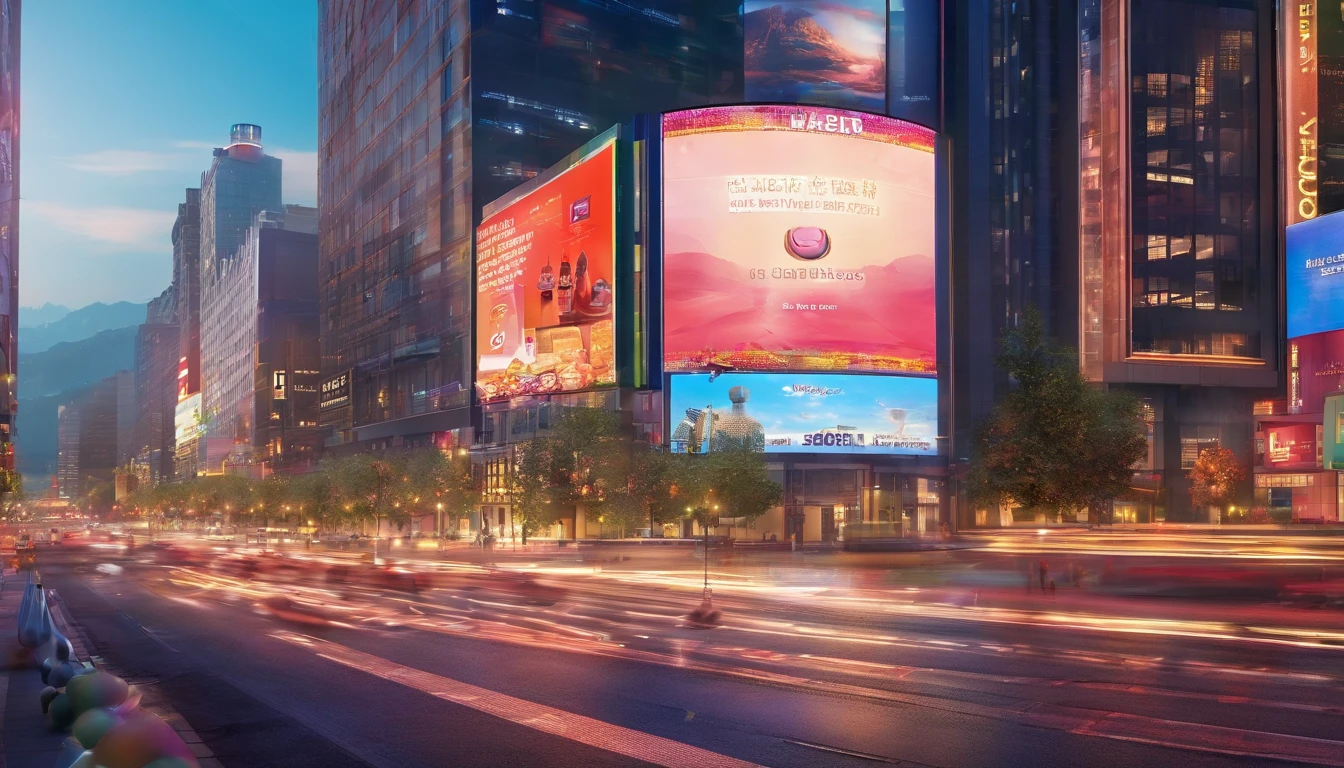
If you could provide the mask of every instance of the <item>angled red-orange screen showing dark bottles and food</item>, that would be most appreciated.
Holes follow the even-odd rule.
[[[616,136],[487,206],[476,230],[481,402],[616,383]]]

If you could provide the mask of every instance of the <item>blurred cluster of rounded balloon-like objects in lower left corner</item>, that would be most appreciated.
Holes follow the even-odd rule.
[[[19,604],[19,642],[42,658],[43,714],[70,732],[56,768],[199,768],[177,732],[140,709],[134,686],[75,660],[74,646],[51,623],[40,576],[30,576]]]

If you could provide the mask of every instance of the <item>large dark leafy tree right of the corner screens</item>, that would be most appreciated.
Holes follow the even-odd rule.
[[[997,364],[1013,386],[976,434],[972,502],[1109,508],[1146,452],[1137,401],[1089,385],[1077,354],[1046,335],[1035,309],[1003,335]]]

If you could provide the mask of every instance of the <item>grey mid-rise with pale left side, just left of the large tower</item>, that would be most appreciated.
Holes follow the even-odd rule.
[[[257,214],[204,286],[207,472],[296,468],[323,444],[314,222],[302,206]]]

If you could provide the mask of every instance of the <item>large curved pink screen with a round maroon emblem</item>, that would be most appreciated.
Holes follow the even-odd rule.
[[[664,370],[934,373],[934,221],[927,128],[664,114]]]

